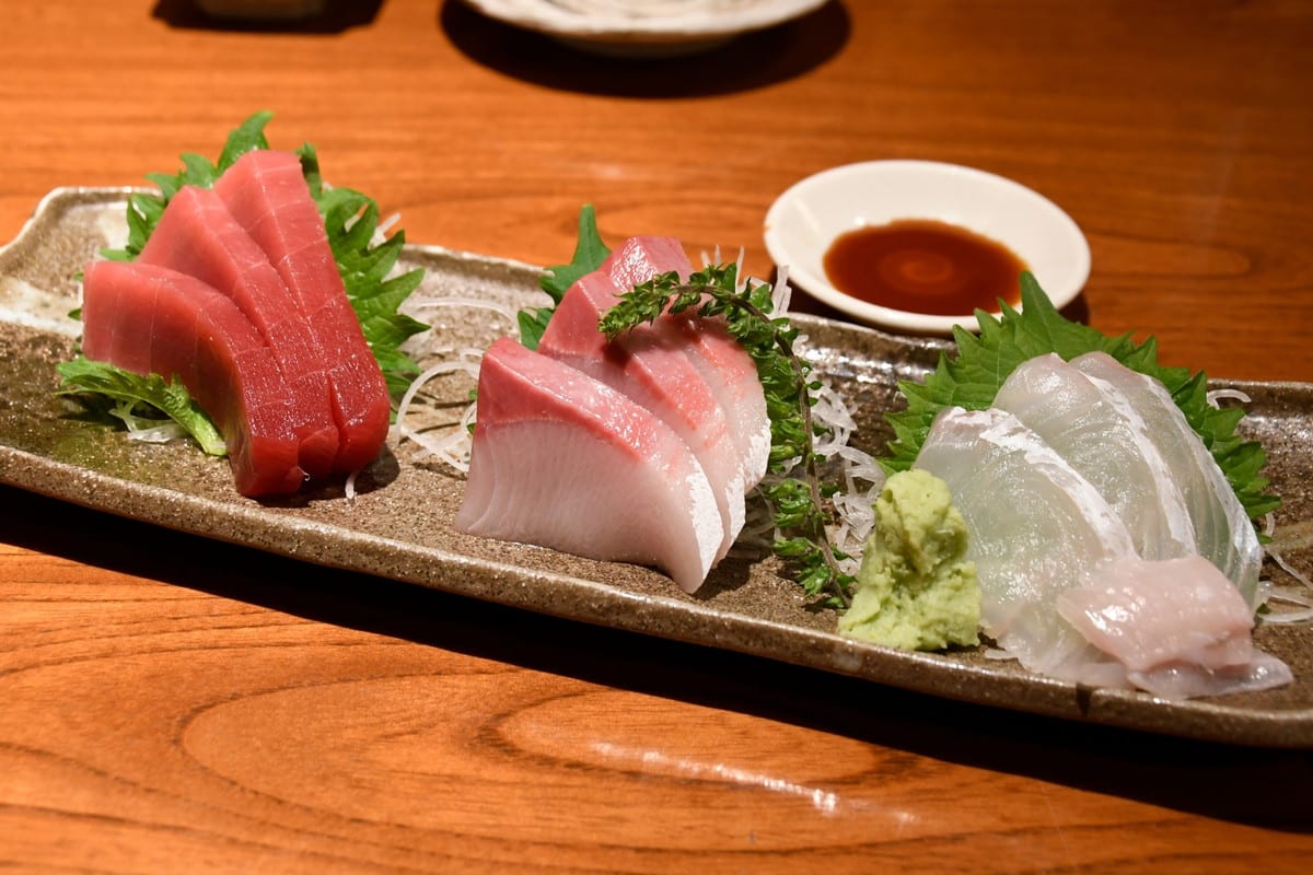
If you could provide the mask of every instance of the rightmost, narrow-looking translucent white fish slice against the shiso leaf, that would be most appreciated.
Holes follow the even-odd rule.
[[[1208,447],[1171,400],[1167,388],[1106,353],[1087,353],[1071,365],[1119,391],[1146,424],[1154,446],[1171,466],[1195,527],[1199,555],[1217,565],[1239,588],[1250,609],[1258,607],[1258,575],[1263,548],[1243,505]]]

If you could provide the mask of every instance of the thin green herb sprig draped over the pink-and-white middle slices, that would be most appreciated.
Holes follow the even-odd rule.
[[[785,559],[809,598],[830,606],[851,603],[852,575],[839,561],[847,555],[830,542],[827,500],[838,488],[821,476],[823,458],[814,438],[825,429],[811,417],[813,396],[819,383],[810,378],[810,365],[793,348],[798,331],[784,316],[772,316],[771,286],[748,281],[738,287],[735,265],[708,266],[687,282],[666,273],[621,294],[599,328],[614,338],[625,331],[654,321],[662,314],[695,312],[723,317],[739,344],[756,363],[771,420],[771,455],[767,470],[777,475],[759,487],[775,513],[783,537],[775,552]]]

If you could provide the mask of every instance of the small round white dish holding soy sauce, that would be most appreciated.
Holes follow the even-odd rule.
[[[905,333],[974,329],[974,307],[997,312],[999,296],[1016,302],[1022,269],[1058,308],[1090,275],[1085,235],[1052,201],[1002,176],[936,161],[847,164],[796,182],[767,211],[765,248],[790,285]],[[955,310],[949,302],[990,270],[1002,279],[983,289],[981,302]],[[851,285],[861,281],[864,287]],[[895,291],[901,299],[881,296]]]

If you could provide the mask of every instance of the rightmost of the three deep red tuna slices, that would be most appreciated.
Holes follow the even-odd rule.
[[[387,437],[387,382],[347,299],[301,159],[272,150],[247,152],[214,190],[282,277],[320,345],[339,429],[334,470],[364,467]]]

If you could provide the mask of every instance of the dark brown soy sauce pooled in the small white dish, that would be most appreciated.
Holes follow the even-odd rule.
[[[1020,299],[1025,262],[1003,244],[937,219],[898,219],[839,235],[825,253],[839,291],[890,310],[962,316]]]

